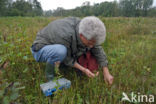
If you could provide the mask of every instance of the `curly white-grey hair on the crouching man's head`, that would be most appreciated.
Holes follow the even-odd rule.
[[[95,16],[85,17],[80,21],[79,34],[87,40],[95,39],[96,44],[102,44],[106,37],[104,23]]]

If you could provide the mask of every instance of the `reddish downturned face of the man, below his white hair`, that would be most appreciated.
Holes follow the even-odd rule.
[[[96,43],[96,41],[94,39],[87,40],[82,34],[80,34],[80,39],[81,39],[82,43],[89,48],[93,48]]]

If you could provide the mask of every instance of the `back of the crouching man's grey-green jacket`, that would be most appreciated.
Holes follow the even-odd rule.
[[[35,45],[34,50],[38,51],[49,44],[63,44],[68,47],[71,44],[72,36],[77,34],[76,26],[79,22],[79,18],[67,17],[49,23],[37,33],[33,43]]]

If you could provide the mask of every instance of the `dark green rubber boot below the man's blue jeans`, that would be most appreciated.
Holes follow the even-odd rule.
[[[50,63],[46,63],[45,76],[47,80],[48,81],[53,80],[54,75],[55,75],[55,66]]]

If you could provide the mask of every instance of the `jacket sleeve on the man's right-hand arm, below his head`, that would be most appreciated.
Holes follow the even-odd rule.
[[[108,60],[107,60],[106,54],[100,45],[93,47],[91,49],[91,53],[95,56],[100,67],[108,66]]]

